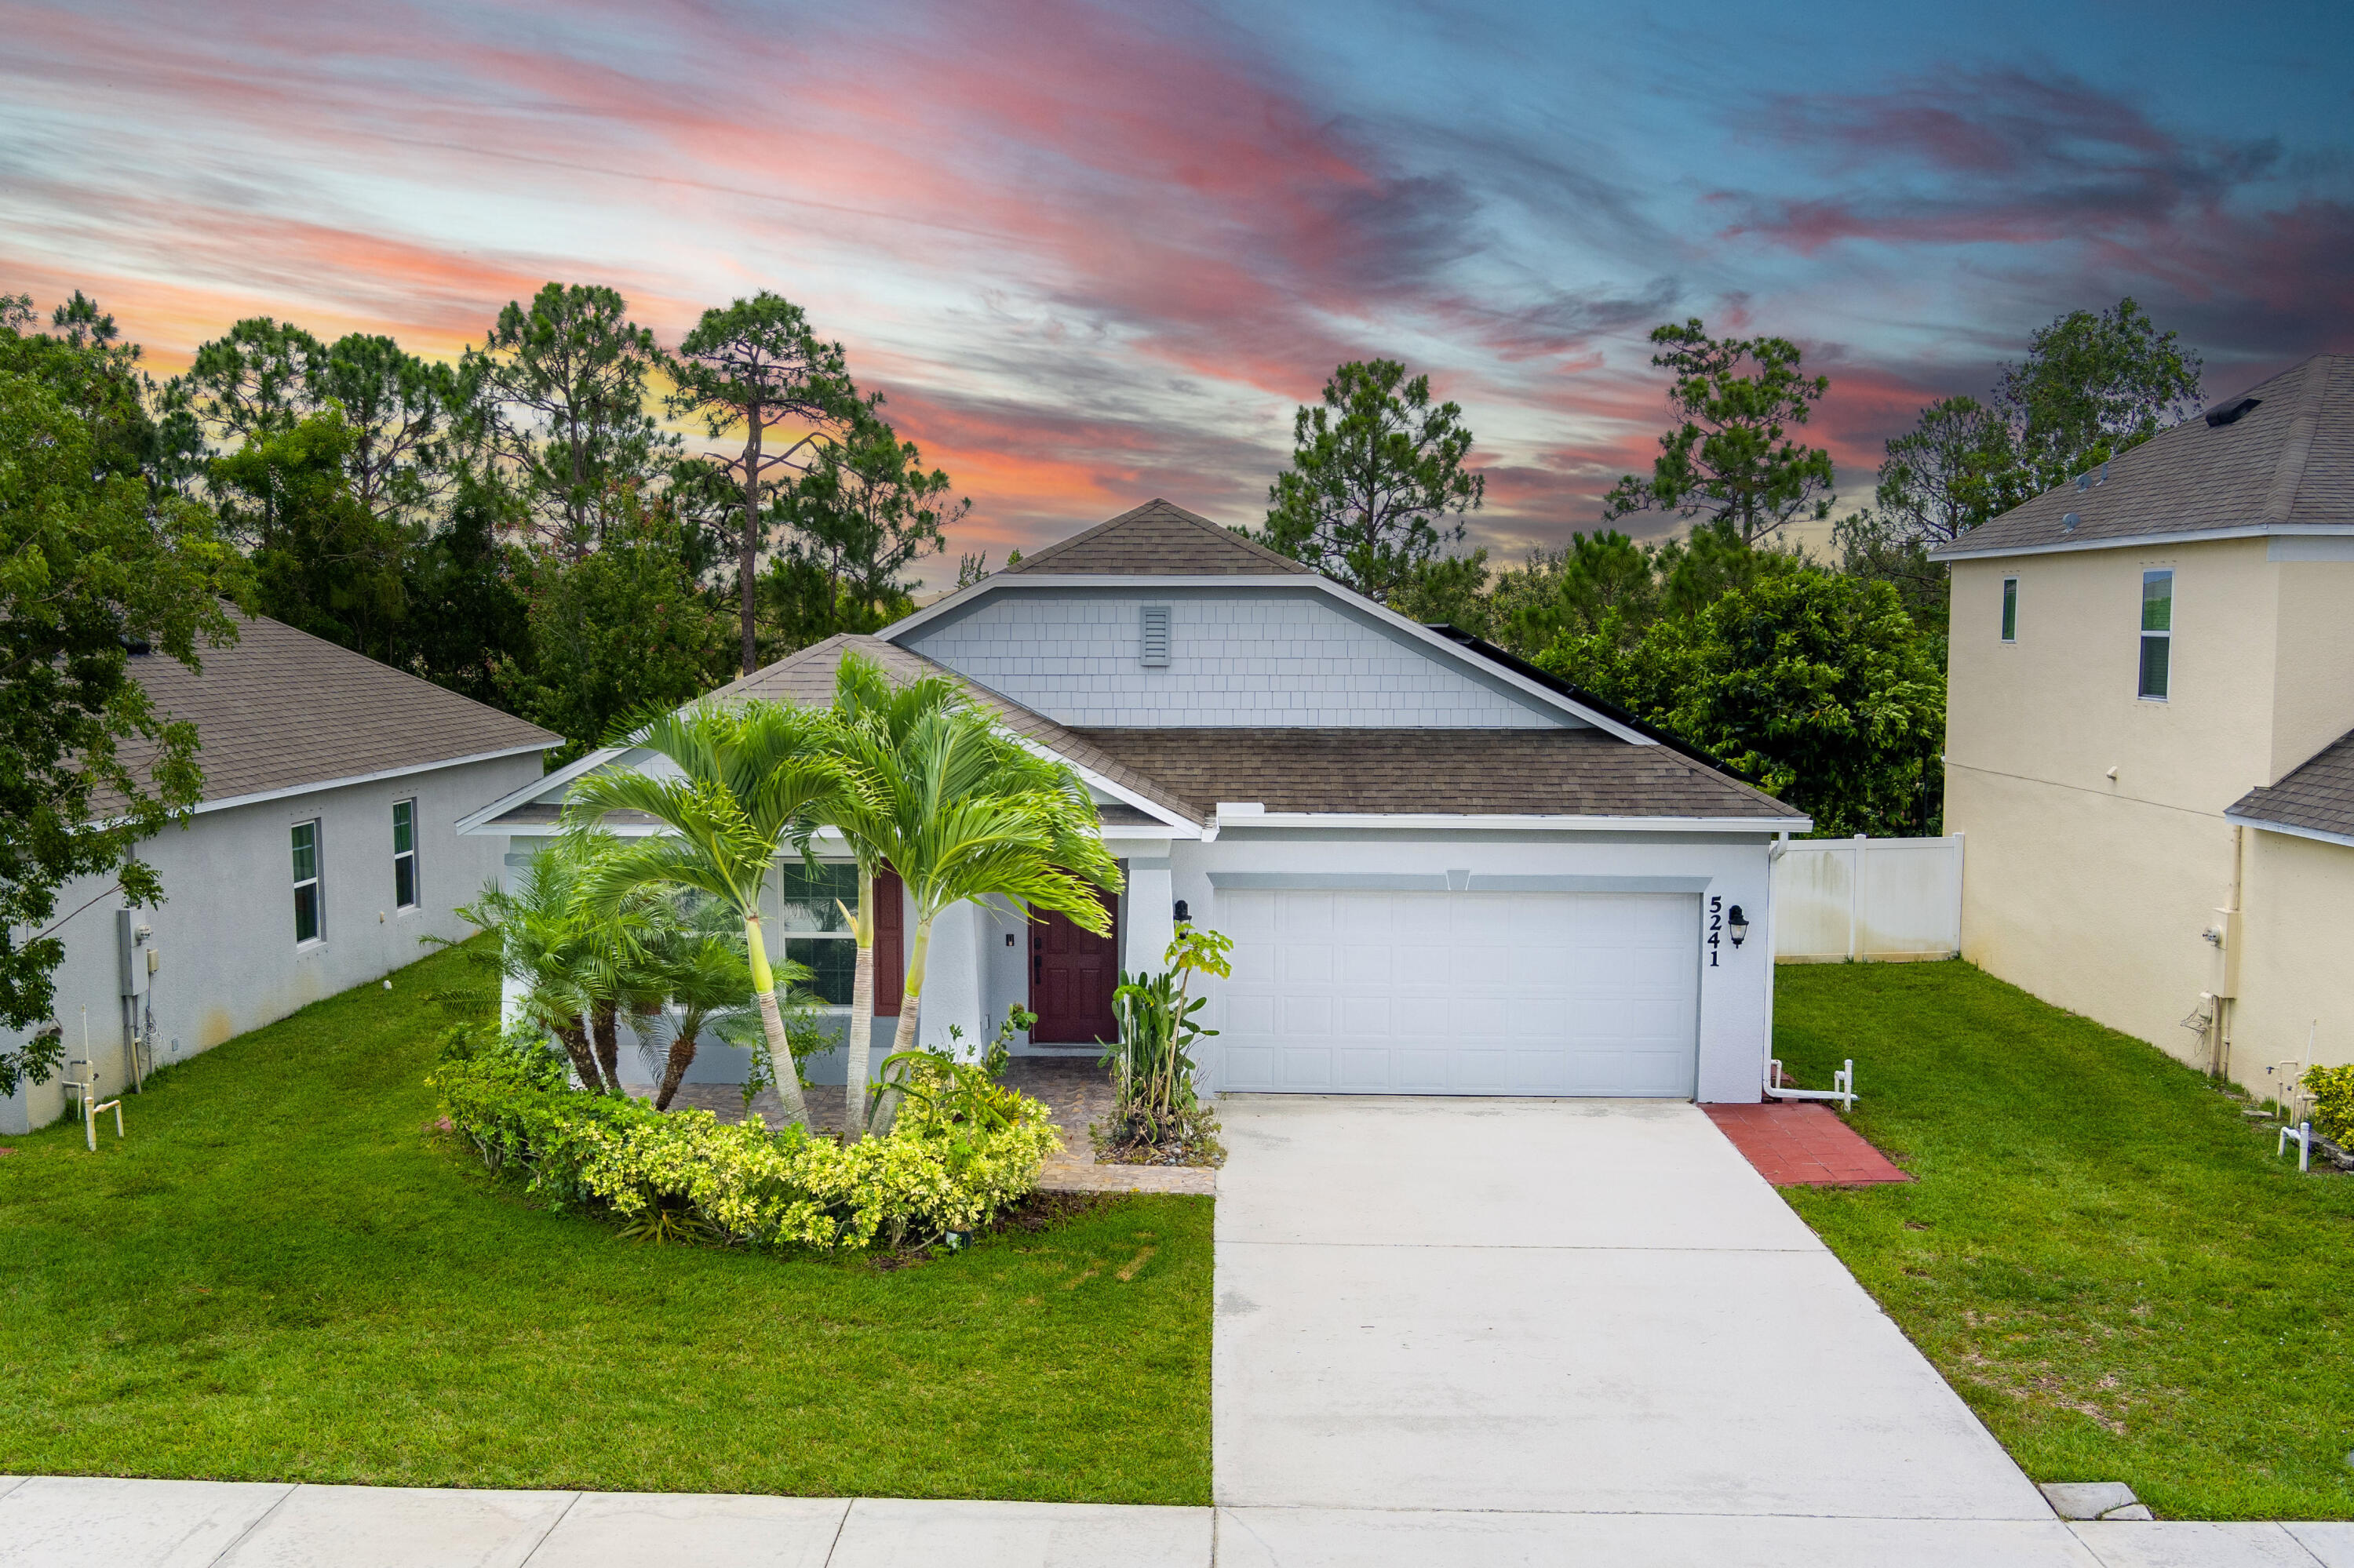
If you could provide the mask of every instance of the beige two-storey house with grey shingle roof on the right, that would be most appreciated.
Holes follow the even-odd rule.
[[[1935,556],[1963,956],[2246,1083],[2354,1059],[2354,356]]]

